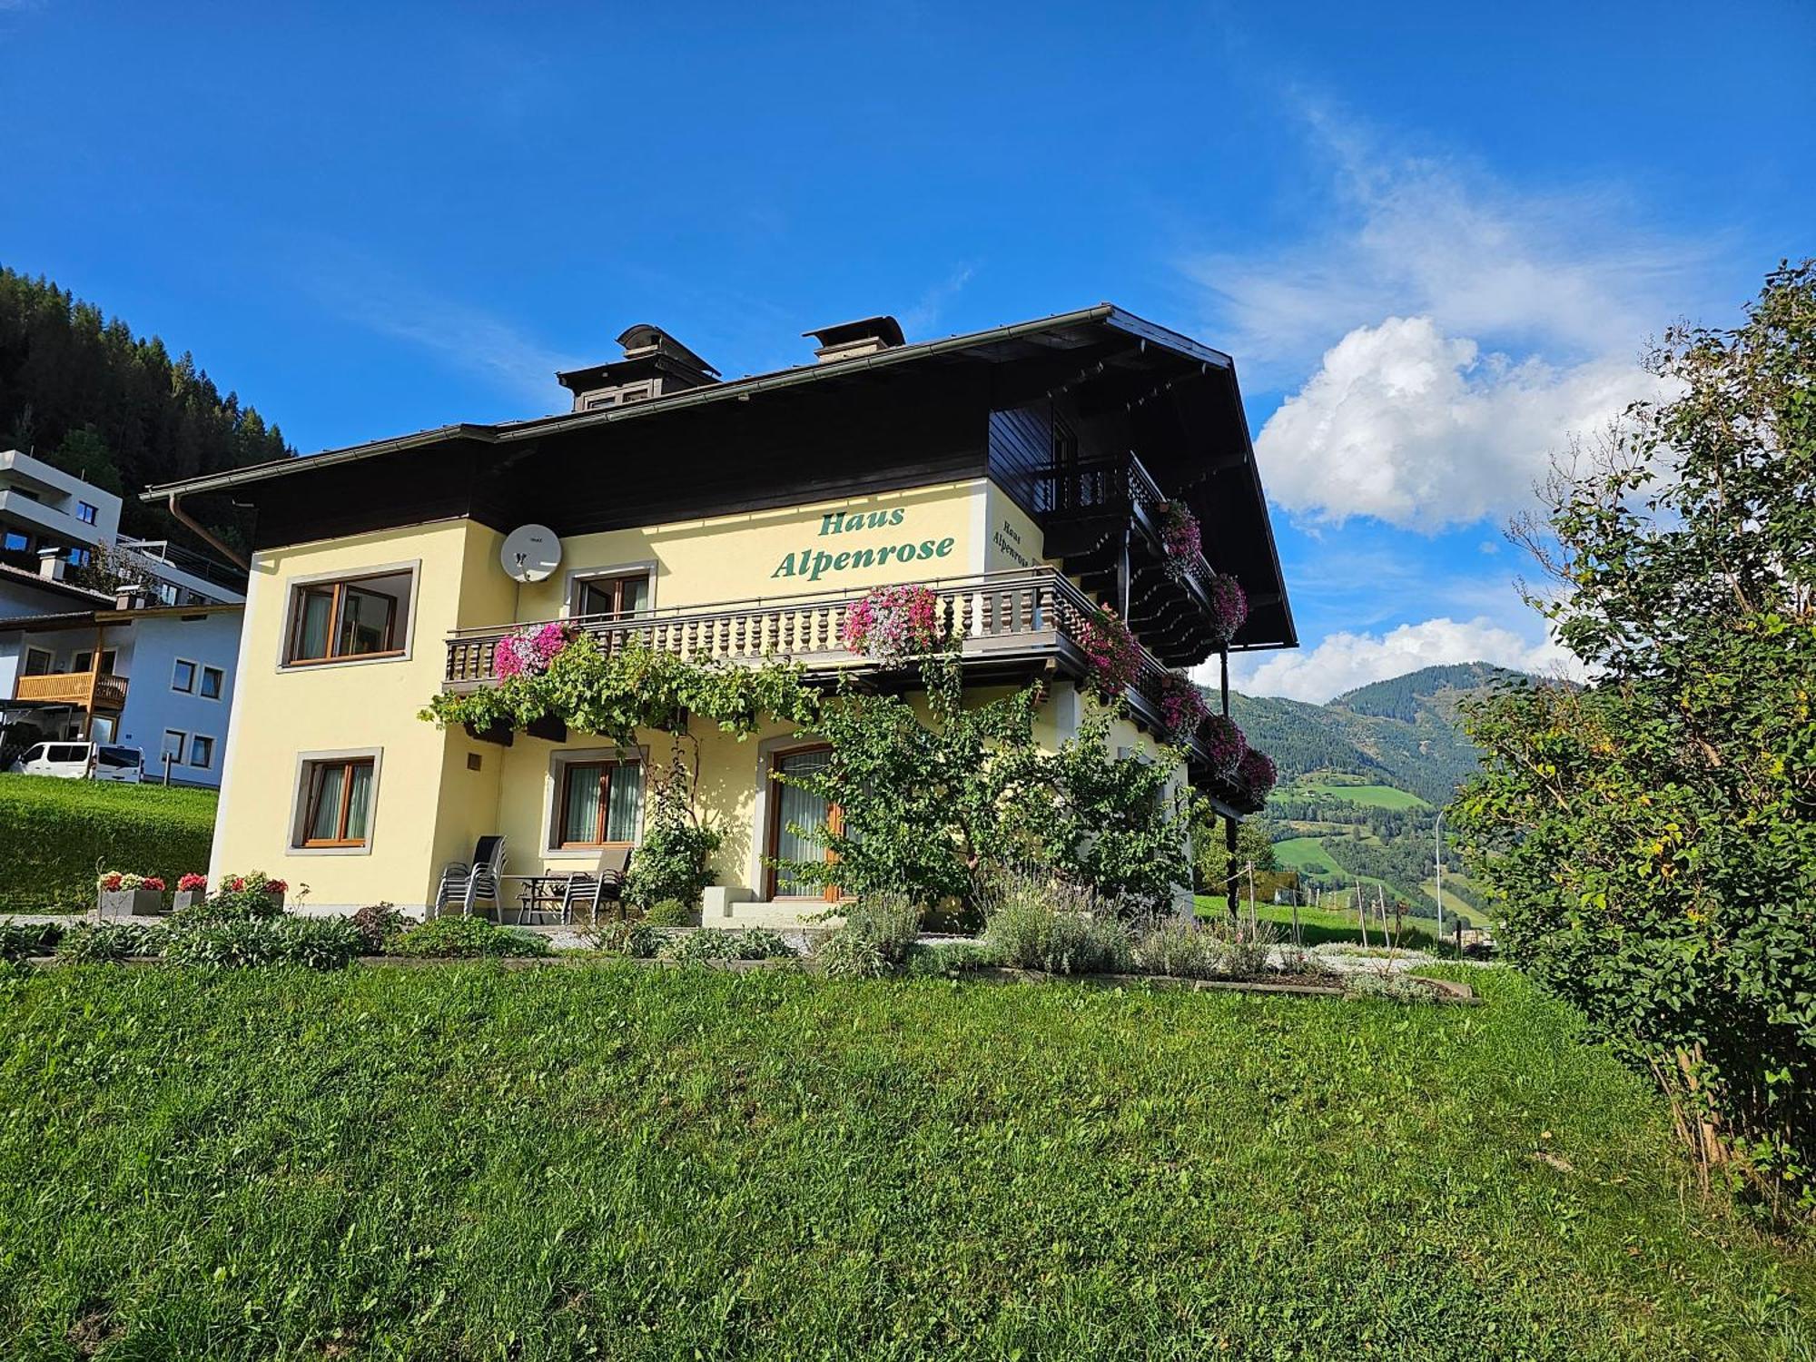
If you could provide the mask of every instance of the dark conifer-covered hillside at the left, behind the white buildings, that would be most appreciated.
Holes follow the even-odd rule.
[[[185,350],[134,336],[67,289],[0,267],[0,449],[122,494],[122,530],[165,538],[176,527],[136,492],[147,483],[242,469],[292,454],[238,394],[225,396]],[[227,498],[192,514],[229,539],[242,527]]]

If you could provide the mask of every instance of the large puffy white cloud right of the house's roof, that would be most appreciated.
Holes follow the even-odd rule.
[[[1527,501],[1554,450],[1651,387],[1631,360],[1515,361],[1429,316],[1391,316],[1324,354],[1262,427],[1255,456],[1288,510],[1429,532]]]

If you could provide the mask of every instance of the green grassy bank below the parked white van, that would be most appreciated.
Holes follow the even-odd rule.
[[[209,859],[212,790],[0,774],[0,912],[94,906],[94,868],[167,884]]]

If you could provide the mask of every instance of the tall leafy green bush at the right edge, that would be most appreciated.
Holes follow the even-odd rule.
[[[1520,527],[1594,677],[1469,710],[1458,826],[1496,944],[1651,1075],[1703,1179],[1816,1215],[1816,260],[1638,403]]]

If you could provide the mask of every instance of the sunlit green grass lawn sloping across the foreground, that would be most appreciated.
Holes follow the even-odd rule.
[[[1658,1102],[1558,1006],[1471,979],[1487,1006],[5,982],[0,1355],[73,1327],[160,1358],[1807,1349],[1811,1262],[1683,1197]]]

